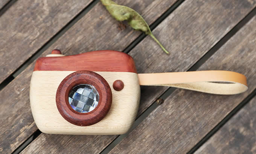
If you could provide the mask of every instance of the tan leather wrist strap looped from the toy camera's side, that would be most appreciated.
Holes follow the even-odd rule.
[[[224,70],[143,73],[138,76],[140,85],[170,86],[211,94],[239,94],[248,89],[244,75]]]

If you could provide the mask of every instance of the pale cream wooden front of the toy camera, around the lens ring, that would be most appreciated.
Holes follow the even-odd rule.
[[[122,79],[127,84],[122,91],[115,91],[111,87],[112,105],[108,114],[101,121],[91,126],[81,127],[66,121],[59,114],[55,103],[56,90],[61,81],[70,73],[73,72],[33,72],[30,85],[30,104],[37,127],[42,132],[53,134],[115,135],[126,133],[132,126],[139,107],[140,86],[137,74],[130,72],[96,72],[109,85],[112,85],[117,79]],[[88,141],[88,139],[86,140]]]

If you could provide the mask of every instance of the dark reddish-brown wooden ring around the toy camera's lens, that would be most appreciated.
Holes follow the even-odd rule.
[[[69,105],[69,92],[79,84],[93,85],[99,93],[99,103],[93,111],[80,113]],[[77,126],[90,126],[101,121],[110,110],[112,92],[108,82],[99,74],[81,70],[64,78],[56,92],[56,105],[61,116]]]

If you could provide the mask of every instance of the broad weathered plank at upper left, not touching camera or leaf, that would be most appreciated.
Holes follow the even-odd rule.
[[[0,83],[92,0],[18,0],[0,18]]]

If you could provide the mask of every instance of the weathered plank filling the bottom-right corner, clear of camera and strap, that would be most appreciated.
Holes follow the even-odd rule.
[[[256,97],[195,153],[256,153]]]

